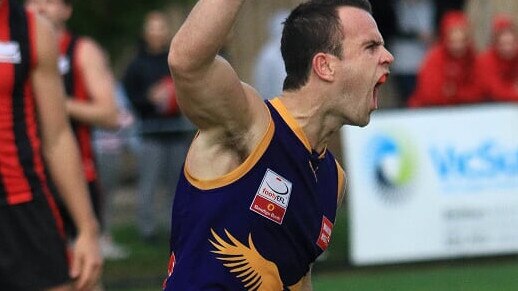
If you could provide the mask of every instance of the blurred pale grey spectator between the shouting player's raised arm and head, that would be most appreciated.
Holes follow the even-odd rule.
[[[286,78],[284,60],[279,48],[282,36],[282,23],[288,11],[280,10],[270,19],[268,42],[259,52],[254,69],[254,87],[264,99],[271,99],[282,92]]]

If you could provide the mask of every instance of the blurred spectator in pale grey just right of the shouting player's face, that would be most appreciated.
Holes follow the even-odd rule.
[[[390,1],[388,1],[390,2]],[[394,1],[397,30],[389,42],[400,104],[405,106],[415,89],[417,72],[434,35],[432,0]]]

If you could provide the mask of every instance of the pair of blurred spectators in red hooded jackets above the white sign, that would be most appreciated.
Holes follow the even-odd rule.
[[[462,12],[449,12],[420,67],[411,107],[518,101],[518,39],[509,16],[497,15],[491,44],[477,53]]]

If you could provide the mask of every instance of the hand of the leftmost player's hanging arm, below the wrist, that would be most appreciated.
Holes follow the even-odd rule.
[[[80,232],[74,245],[70,277],[77,290],[92,290],[101,276],[103,259],[97,233]]]

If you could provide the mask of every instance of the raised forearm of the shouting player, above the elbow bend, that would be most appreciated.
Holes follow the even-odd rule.
[[[223,47],[244,0],[201,0],[172,40],[169,61],[183,69],[209,65]]]

